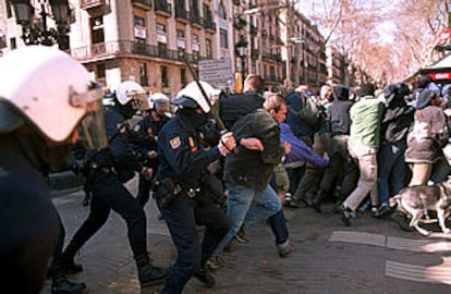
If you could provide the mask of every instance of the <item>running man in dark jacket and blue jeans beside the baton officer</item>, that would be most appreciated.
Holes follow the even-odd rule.
[[[272,171],[290,144],[280,143],[279,123],[285,120],[287,105],[280,95],[272,95],[264,109],[240,119],[232,128],[239,147],[226,158],[224,176],[228,191],[227,215],[231,229],[219,243],[211,259],[218,259],[240,228],[268,220],[276,237],[280,257],[291,252],[289,232],[281,203],[269,185]]]

